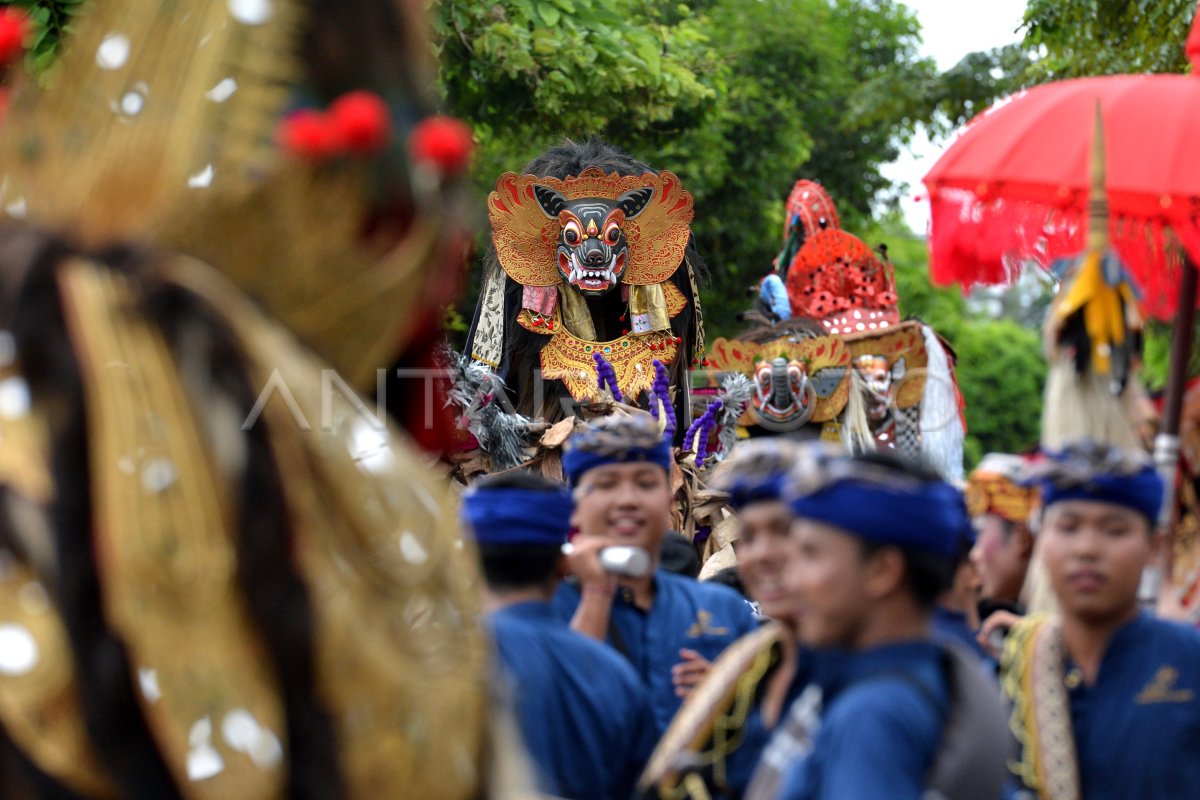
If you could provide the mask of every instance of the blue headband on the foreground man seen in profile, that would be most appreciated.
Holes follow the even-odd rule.
[[[971,535],[962,494],[942,481],[912,487],[846,479],[791,503],[797,517],[842,528],[877,545],[956,557]]]

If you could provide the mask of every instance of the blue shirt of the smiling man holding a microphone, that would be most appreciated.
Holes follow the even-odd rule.
[[[554,595],[559,615],[570,620],[578,604],[578,585],[560,584]],[[629,660],[649,692],[656,734],[661,735],[683,704],[671,680],[671,668],[680,661],[679,650],[695,650],[715,661],[721,650],[757,625],[750,604],[728,587],[659,570],[654,573],[654,603],[649,610],[635,606],[628,589],[617,591],[608,644]]]

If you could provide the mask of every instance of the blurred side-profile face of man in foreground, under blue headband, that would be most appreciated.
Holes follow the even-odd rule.
[[[792,524],[792,536],[800,639],[814,646],[852,646],[869,604],[869,560],[862,545],[839,528],[808,519]]]

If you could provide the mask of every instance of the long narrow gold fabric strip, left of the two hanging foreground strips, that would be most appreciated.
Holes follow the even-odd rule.
[[[156,687],[143,714],[188,796],[282,796],[277,679],[239,599],[228,489],[172,356],[104,267],[74,261],[60,289],[84,373],[104,614]],[[245,747],[217,735],[232,715],[253,730]]]

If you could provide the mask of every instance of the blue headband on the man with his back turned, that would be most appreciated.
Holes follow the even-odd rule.
[[[462,499],[463,522],[480,545],[562,545],[574,510],[565,488],[485,488]]]

